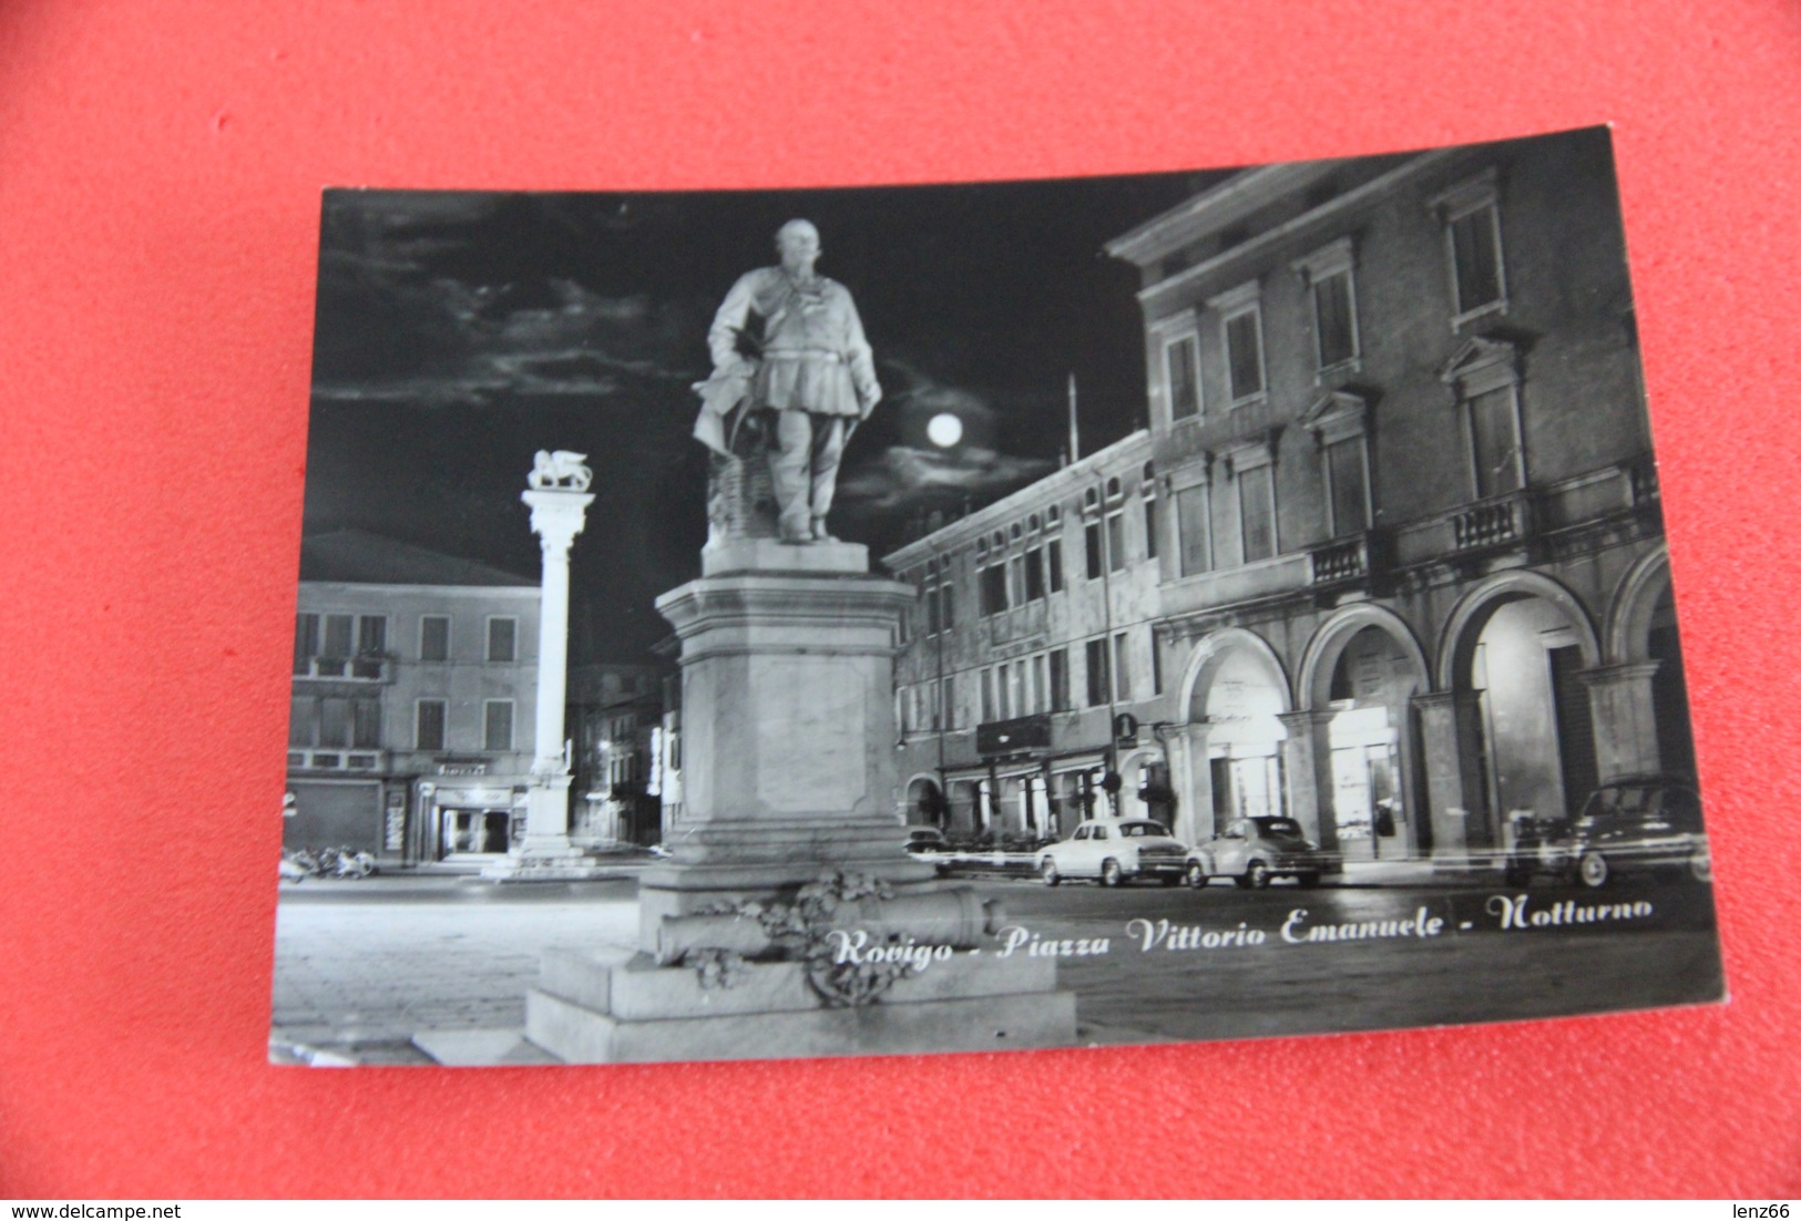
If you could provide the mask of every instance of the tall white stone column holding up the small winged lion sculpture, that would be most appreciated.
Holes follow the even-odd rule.
[[[535,477],[537,484],[538,479]],[[580,481],[587,486],[585,481]],[[538,585],[538,699],[533,719],[526,834],[504,861],[481,873],[490,881],[589,877],[594,863],[569,843],[569,760],[564,758],[564,704],[569,692],[569,546],[582,533],[585,492],[540,488],[519,495],[531,508],[531,533],[544,553]]]

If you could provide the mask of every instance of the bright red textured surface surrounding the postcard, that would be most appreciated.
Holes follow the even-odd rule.
[[[7,4],[0,1196],[1801,1194],[1797,68],[1776,0]],[[321,187],[1090,175],[1601,121],[1729,1005],[265,1063]]]

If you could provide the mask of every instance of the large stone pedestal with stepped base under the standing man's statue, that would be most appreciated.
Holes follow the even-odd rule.
[[[639,881],[636,954],[546,960],[528,998],[533,1043],[571,1063],[627,1063],[1075,1041],[1075,999],[1055,990],[1055,962],[1000,958],[980,935],[854,1005],[780,956],[733,958],[729,980],[702,978],[695,958],[719,953],[710,947],[656,965],[666,918],[792,904],[821,875],[877,877],[915,908],[967,906],[969,888],[902,850],[893,648],[915,594],[868,576],[866,564],[854,544],[728,538],[702,551],[699,580],[657,600],[683,666],[684,809],[665,843],[674,859]]]

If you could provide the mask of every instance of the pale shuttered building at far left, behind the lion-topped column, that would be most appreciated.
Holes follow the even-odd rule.
[[[364,531],[303,540],[283,845],[504,854],[537,652],[535,580]]]

